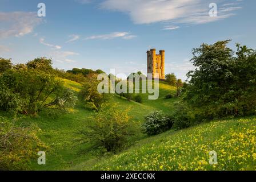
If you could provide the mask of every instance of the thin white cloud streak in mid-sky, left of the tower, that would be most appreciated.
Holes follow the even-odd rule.
[[[85,40],[92,40],[92,39],[115,39],[115,38],[123,38],[123,39],[133,39],[135,38],[135,35],[130,35],[129,32],[113,32],[110,34],[103,34],[103,35],[93,35],[85,38]]]

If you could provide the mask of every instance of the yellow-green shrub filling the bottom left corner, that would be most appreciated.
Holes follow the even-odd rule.
[[[31,159],[47,147],[38,139],[35,125],[17,127],[14,122],[0,117],[0,171],[30,169]]]

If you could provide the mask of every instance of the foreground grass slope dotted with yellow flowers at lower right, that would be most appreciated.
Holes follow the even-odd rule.
[[[140,140],[110,158],[71,170],[255,170],[256,117],[213,121]],[[218,164],[209,164],[209,152]]]

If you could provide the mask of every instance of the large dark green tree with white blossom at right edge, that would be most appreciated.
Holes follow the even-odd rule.
[[[256,109],[256,52],[229,40],[193,49],[195,71],[184,90],[183,100],[202,118],[254,114]]]

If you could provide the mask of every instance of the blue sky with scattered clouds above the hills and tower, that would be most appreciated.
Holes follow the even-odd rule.
[[[46,17],[37,16],[45,3]],[[210,3],[217,16],[209,16]],[[0,57],[53,59],[60,69],[146,73],[146,51],[165,49],[166,73],[185,80],[191,50],[232,39],[256,49],[254,0],[0,0]]]

